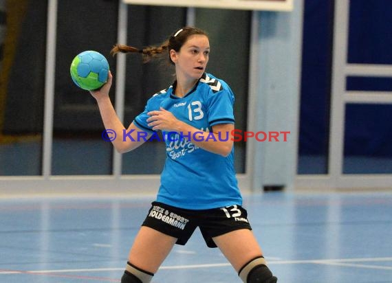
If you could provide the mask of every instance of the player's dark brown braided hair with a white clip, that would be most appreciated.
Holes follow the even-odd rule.
[[[118,52],[140,53],[143,56],[143,62],[146,63],[151,60],[151,58],[158,57],[166,53],[168,62],[174,65],[170,58],[170,50],[173,49],[175,52],[179,52],[179,49],[181,49],[182,45],[188,41],[190,36],[197,34],[208,36],[204,30],[200,30],[197,27],[182,27],[181,29],[171,34],[171,36],[159,46],[148,46],[142,49],[138,49],[129,45],[116,44],[111,49],[110,54],[115,55]]]

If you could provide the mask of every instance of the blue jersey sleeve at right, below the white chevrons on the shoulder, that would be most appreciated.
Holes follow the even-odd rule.
[[[210,126],[217,124],[234,124],[234,94],[230,88],[221,89],[211,93],[208,103],[208,123]]]

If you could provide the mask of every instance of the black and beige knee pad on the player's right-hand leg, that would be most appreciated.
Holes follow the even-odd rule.
[[[276,277],[267,267],[267,262],[261,256],[245,264],[238,273],[244,283],[275,283]]]

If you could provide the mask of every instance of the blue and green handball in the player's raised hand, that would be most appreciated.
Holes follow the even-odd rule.
[[[71,77],[81,89],[92,91],[102,87],[109,76],[109,63],[96,51],[82,52],[72,60]]]

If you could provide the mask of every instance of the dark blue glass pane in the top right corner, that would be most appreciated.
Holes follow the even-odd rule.
[[[349,63],[392,64],[392,1],[350,1]]]

